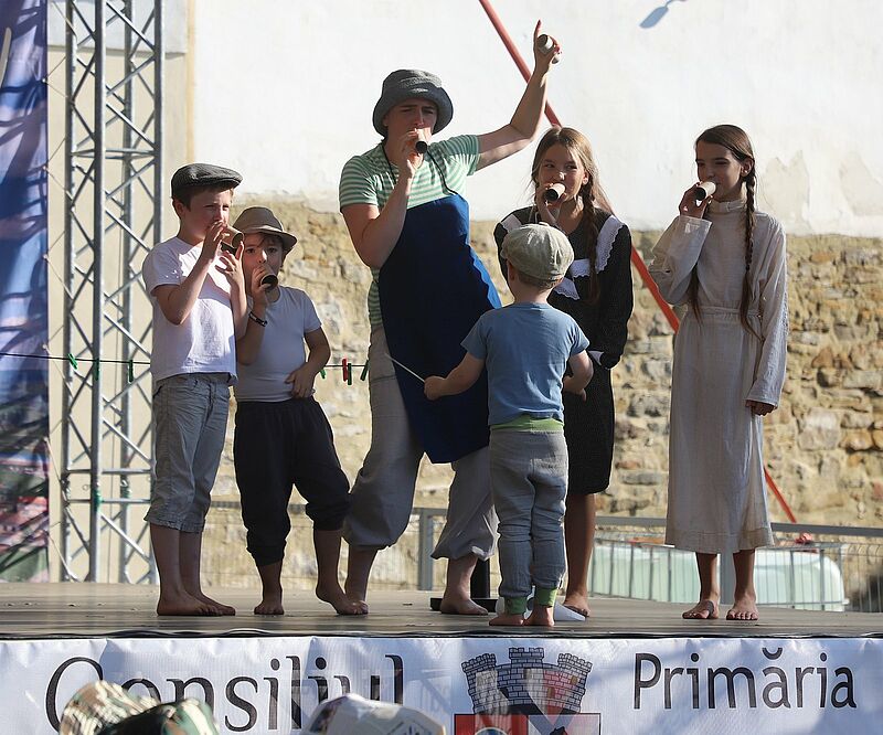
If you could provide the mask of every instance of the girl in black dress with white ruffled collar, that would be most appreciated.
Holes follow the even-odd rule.
[[[564,606],[589,616],[586,575],[595,540],[595,496],[610,483],[614,458],[614,392],[610,371],[623,356],[631,316],[631,234],[609,212],[598,185],[588,139],[573,128],[552,128],[540,140],[531,167],[534,203],[510,213],[493,233],[501,247],[507,233],[545,222],[562,230],[574,251],[573,265],[549,296],[588,338],[595,369],[581,400],[564,394],[567,441],[567,498],[564,539],[567,587]],[[557,198],[550,200],[550,192]],[[506,262],[500,260],[506,276]]]

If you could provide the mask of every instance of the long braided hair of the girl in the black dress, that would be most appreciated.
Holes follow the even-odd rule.
[[[598,166],[592,155],[592,145],[588,142],[588,138],[574,128],[552,128],[540,139],[536,152],[533,155],[533,164],[531,166],[531,179],[533,179],[534,187],[540,185],[540,167],[543,163],[546,151],[552,146],[564,146],[571,156],[579,161],[586,172],[586,182],[579,188],[577,196],[583,200],[581,222],[586,227],[586,251],[589,265],[588,301],[594,303],[600,296],[595,265],[598,259],[598,227],[595,224],[595,201],[598,200],[598,203],[604,205],[607,204],[607,198],[598,185]],[[609,205],[606,209],[609,210]]]

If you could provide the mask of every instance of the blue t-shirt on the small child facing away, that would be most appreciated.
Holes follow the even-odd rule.
[[[488,424],[519,416],[564,420],[561,384],[567,360],[588,348],[570,315],[547,303],[486,311],[462,341],[488,369]]]

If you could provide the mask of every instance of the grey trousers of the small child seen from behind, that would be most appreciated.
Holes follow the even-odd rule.
[[[500,597],[557,589],[564,576],[567,443],[563,432],[490,433],[490,478],[500,516]]]

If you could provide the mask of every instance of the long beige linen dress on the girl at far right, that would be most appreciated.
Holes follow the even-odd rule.
[[[738,317],[745,273],[745,201],[712,201],[705,220],[679,216],[653,249],[650,273],[673,305],[688,302],[698,268],[700,318],[688,307],[674,340],[666,542],[702,553],[773,543],[762,454],[763,422],[746,400],[778,405],[785,381],[788,297],[785,234],[755,214],[748,319]]]

